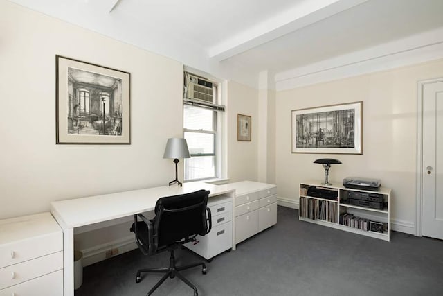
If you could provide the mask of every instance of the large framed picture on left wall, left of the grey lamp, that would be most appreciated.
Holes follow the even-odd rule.
[[[130,144],[130,73],[55,55],[55,142]]]

